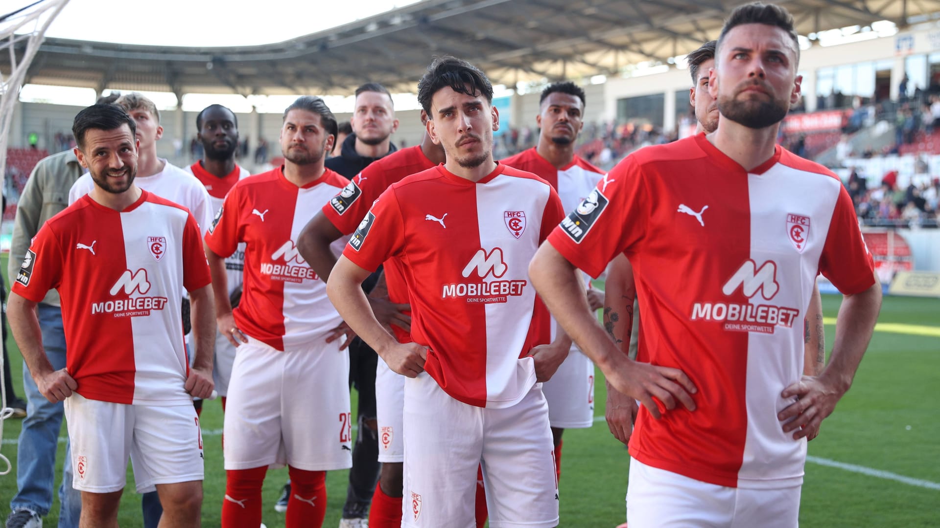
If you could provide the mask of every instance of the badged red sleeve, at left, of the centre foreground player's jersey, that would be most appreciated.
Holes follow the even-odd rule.
[[[387,189],[356,226],[343,255],[364,270],[374,272],[385,259],[397,256],[404,245],[404,221],[394,188]]]

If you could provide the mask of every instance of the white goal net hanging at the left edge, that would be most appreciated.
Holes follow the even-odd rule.
[[[39,52],[39,45],[49,24],[62,11],[69,0],[39,0],[7,14],[0,14],[0,54],[9,55],[9,71],[0,68],[0,184],[7,184],[7,144],[13,109],[20,99],[20,89],[26,70]],[[17,56],[19,54],[19,56]],[[0,370],[3,356],[0,355]],[[7,390],[0,383],[0,437],[3,421],[12,410],[7,409]],[[8,474],[8,458],[0,454],[0,475]]]

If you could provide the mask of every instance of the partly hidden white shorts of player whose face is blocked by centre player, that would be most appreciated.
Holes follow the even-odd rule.
[[[403,462],[405,442],[401,413],[405,406],[405,378],[380,357],[375,367],[375,411],[379,421],[379,461]]]

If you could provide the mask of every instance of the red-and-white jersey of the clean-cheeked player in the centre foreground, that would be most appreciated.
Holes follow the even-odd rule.
[[[424,369],[455,399],[504,408],[532,388],[526,355],[548,343],[528,263],[563,216],[535,175],[497,164],[474,183],[438,165],[389,187],[343,255],[369,271],[398,257],[412,338],[429,349]]]

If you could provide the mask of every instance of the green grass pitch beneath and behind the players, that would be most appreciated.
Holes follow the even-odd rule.
[[[6,256],[0,261],[6,271]],[[823,296],[827,317],[838,313],[840,299]],[[940,324],[940,300],[885,298],[882,322]],[[832,345],[835,327],[826,327]],[[23,362],[12,337],[8,352],[17,394],[23,395]],[[598,379],[602,379],[598,371]],[[353,393],[354,396],[354,393]],[[565,432],[560,483],[561,526],[614,527],[624,520],[628,454],[603,422],[604,385],[596,385],[595,414],[601,421],[588,429]],[[353,400],[353,409],[355,404]],[[871,342],[853,389],[824,423],[818,439],[809,443],[809,455],[864,466],[873,470],[940,483],[940,338],[878,332]],[[222,428],[221,406],[206,402],[202,427],[207,433]],[[0,520],[5,520],[9,499],[16,492],[16,452],[19,420],[4,423],[0,454],[13,462],[10,474],[0,475]],[[61,435],[66,434],[63,427]],[[205,500],[202,524],[220,524],[225,473],[221,438],[204,437],[206,457]],[[57,465],[61,475],[64,444],[59,443]],[[2,469],[2,468],[0,468]],[[283,514],[274,512],[286,470],[270,471],[264,487],[263,520],[269,528],[284,526]],[[346,495],[347,472],[327,475],[328,506],[324,526],[337,526]],[[121,500],[120,525],[142,526],[140,496],[128,489]],[[56,482],[56,486],[57,486]],[[44,525],[56,525],[58,499]],[[807,462],[800,524],[804,527],[926,527],[940,526],[940,490],[852,473]]]

